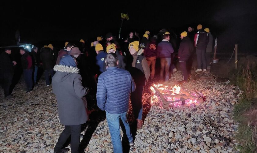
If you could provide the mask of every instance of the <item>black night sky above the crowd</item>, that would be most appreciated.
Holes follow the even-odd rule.
[[[121,35],[137,31],[142,37],[162,28],[177,35],[187,31],[188,25],[202,24],[218,37],[218,48],[233,51],[257,50],[257,5],[255,1],[123,1],[123,2],[47,2],[29,1],[6,3],[1,7],[0,45],[15,43],[15,32],[20,31],[21,42],[34,44],[79,41],[105,36],[107,32],[118,35],[120,13],[128,13]]]

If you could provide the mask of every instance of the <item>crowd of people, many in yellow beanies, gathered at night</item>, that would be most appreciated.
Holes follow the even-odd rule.
[[[206,52],[211,52],[213,37],[209,28],[201,24],[194,33],[193,27],[188,27],[180,35],[178,62],[188,82],[188,61],[192,59],[194,50],[197,55],[198,67],[195,72],[205,72],[207,69]],[[66,140],[71,136],[71,150],[77,152],[80,144],[81,125],[88,120],[87,100],[85,95],[96,95],[97,106],[106,111],[106,119],[110,130],[114,152],[122,152],[120,119],[125,126],[129,145],[133,138],[127,121],[129,101],[131,101],[137,129],[143,126],[142,94],[149,79],[155,78],[156,59],[160,58],[160,80],[169,80],[170,70],[174,67],[174,44],[170,42],[170,33],[162,30],[158,35],[146,31],[140,39],[138,33],[130,32],[128,38],[120,45],[119,40],[107,33],[105,39],[97,37],[91,47],[85,45],[83,39],[79,45],[66,42],[64,49],[57,51],[52,44],[45,45],[38,51],[32,48],[29,53],[20,48],[26,93],[33,91],[39,80],[38,69],[43,67],[46,85],[52,84],[53,92],[58,102],[58,112],[61,124],[65,129],[61,133],[54,152],[65,152]],[[128,52],[125,52],[125,50]],[[39,54],[40,53],[40,54]],[[5,98],[12,98],[10,84],[12,83],[13,67],[17,62],[9,57],[10,48],[0,55],[0,65],[3,78]],[[150,69],[151,68],[151,69]],[[49,76],[50,73],[50,76]],[[150,77],[151,76],[151,77]]]

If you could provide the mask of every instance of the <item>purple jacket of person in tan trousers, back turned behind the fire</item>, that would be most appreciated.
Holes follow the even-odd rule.
[[[174,52],[173,47],[169,41],[163,39],[157,47],[157,56],[159,58],[171,58],[171,54]]]

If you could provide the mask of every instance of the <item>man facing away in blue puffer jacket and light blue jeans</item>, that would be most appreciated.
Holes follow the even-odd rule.
[[[116,54],[107,54],[105,62],[107,70],[99,76],[97,84],[97,106],[106,112],[114,153],[121,153],[120,119],[125,126],[129,145],[134,144],[126,115],[130,93],[135,91],[135,83],[127,70],[117,68]]]

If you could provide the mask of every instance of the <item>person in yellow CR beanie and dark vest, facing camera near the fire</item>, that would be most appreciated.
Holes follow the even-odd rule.
[[[131,104],[134,117],[137,120],[137,129],[143,126],[142,113],[142,93],[144,86],[150,76],[150,68],[147,64],[146,58],[142,55],[143,49],[138,49],[139,42],[134,41],[128,45],[129,52],[133,57],[131,75],[135,80],[136,90],[131,93]]]

